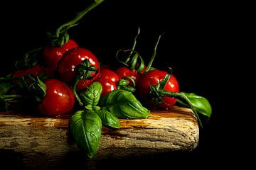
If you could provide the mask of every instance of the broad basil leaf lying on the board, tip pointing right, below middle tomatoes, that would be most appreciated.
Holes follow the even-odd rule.
[[[110,91],[102,98],[100,106],[117,118],[148,118],[150,114],[131,92],[122,89]]]

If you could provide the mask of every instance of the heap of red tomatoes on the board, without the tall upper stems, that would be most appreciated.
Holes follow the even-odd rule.
[[[27,74],[33,77],[43,75],[46,95],[41,98],[38,110],[44,115],[69,113],[75,106],[75,99],[79,99],[76,91],[87,89],[95,81],[102,84],[101,98],[114,89],[130,88],[136,89],[134,94],[149,107],[169,108],[176,103],[176,99],[170,96],[164,96],[161,102],[156,100],[157,93],[154,94],[151,87],[161,84],[168,73],[159,69],[151,70],[150,64],[146,67],[142,57],[137,60],[137,53],[130,53],[128,56],[133,62],[118,68],[101,63],[90,50],[79,47],[75,40],[68,40],[61,46],[46,45],[42,54],[43,64],[37,63],[28,69],[18,69],[13,72],[12,77],[17,79],[26,77]],[[173,74],[162,90],[179,92],[178,81]]]

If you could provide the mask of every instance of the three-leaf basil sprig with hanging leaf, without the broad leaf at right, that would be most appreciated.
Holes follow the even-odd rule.
[[[80,91],[80,99],[85,106],[70,118],[70,131],[80,149],[88,157],[95,157],[100,143],[102,124],[111,128],[120,128],[119,119],[102,110],[97,104],[102,94],[102,85],[93,82],[85,91]]]

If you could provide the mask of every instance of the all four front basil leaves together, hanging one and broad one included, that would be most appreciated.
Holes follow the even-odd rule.
[[[150,114],[129,91],[117,89],[100,99],[101,94],[99,82],[80,91],[85,109],[77,111],[70,119],[70,131],[75,142],[90,158],[97,154],[102,124],[118,129],[119,118],[148,118]]]

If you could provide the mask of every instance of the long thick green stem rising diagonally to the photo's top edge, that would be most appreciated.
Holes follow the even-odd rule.
[[[85,16],[86,13],[88,13],[89,11],[91,11],[93,8],[95,8],[96,6],[98,6],[99,4],[102,3],[102,1],[104,0],[95,0],[94,3],[92,3],[90,6],[88,6],[87,8],[85,8],[83,11],[80,11],[79,13],[77,13],[77,15],[75,16],[75,18],[73,18],[73,20],[68,21],[67,23],[64,23],[63,25],[61,25],[55,32],[56,38],[60,37],[60,34],[63,32],[66,32],[66,30],[72,26],[75,26],[75,23],[77,23],[83,16]],[[66,40],[68,41],[68,40]]]

